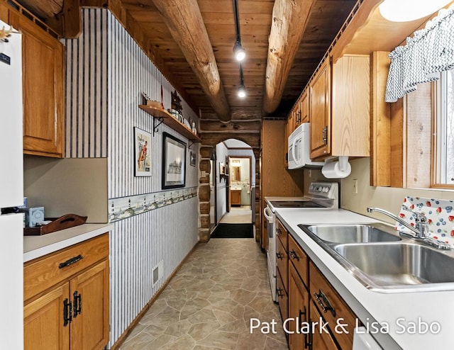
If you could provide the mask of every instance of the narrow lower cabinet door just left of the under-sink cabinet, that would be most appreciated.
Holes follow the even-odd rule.
[[[298,320],[299,324],[307,322],[309,319],[309,293],[291,262],[289,262],[289,319]],[[307,349],[308,334],[297,333],[296,323],[287,324],[287,329],[290,331],[289,349]],[[292,332],[294,333],[292,334]]]

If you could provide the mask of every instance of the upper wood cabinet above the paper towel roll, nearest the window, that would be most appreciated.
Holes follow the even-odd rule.
[[[311,159],[369,156],[369,62],[368,55],[332,65],[328,58],[311,80]]]

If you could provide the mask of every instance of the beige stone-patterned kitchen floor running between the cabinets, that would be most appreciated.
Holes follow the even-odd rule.
[[[266,267],[255,239],[199,244],[120,349],[288,349]],[[277,334],[251,334],[251,318]]]

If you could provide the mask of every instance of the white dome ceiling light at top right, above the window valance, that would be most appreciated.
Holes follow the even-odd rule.
[[[392,22],[414,21],[434,13],[452,0],[384,0],[379,9]]]

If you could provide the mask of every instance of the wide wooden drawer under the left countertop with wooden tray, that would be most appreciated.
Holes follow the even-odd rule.
[[[109,257],[109,234],[32,260],[23,266],[23,298],[28,300],[75,273]]]

